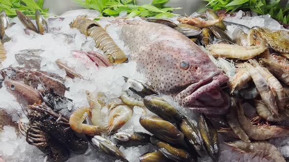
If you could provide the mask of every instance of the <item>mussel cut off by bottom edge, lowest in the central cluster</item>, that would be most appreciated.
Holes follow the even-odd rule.
[[[144,155],[140,156],[139,160],[141,162],[174,162],[168,159],[160,151],[145,153]]]

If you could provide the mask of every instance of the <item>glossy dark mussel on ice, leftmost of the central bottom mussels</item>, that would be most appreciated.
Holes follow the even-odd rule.
[[[113,159],[128,162],[120,149],[113,142],[104,137],[94,136],[91,139],[91,144],[97,149],[97,151],[104,153]]]

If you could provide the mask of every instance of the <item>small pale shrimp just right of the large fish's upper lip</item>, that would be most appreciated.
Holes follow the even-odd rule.
[[[230,93],[233,93],[235,90],[240,90],[247,82],[251,80],[252,78],[245,68],[243,67],[238,68],[236,75],[229,83],[231,89]]]

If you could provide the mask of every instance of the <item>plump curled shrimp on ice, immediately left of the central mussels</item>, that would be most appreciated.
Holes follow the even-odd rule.
[[[108,134],[115,133],[132,117],[133,110],[127,105],[119,105],[109,113]]]

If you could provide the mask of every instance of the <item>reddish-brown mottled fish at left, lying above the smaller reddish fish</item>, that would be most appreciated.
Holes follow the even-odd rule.
[[[52,88],[59,95],[64,95],[66,90],[63,78],[46,71],[24,67],[8,67],[0,70],[0,74],[3,78],[23,81],[26,85],[33,88],[37,88],[39,84],[43,85],[46,89]]]

